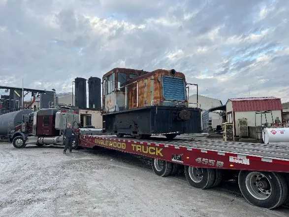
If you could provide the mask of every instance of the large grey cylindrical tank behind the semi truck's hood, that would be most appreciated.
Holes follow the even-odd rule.
[[[22,123],[23,114],[30,114],[33,110],[23,109],[0,115],[0,135],[7,135],[11,130]]]

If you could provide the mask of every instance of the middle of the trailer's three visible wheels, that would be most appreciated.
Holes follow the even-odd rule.
[[[209,168],[185,166],[185,175],[193,187],[200,189],[211,187],[216,180],[216,171]]]

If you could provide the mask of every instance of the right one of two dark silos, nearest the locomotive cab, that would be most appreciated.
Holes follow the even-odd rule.
[[[98,77],[88,79],[88,107],[101,109],[101,80]]]

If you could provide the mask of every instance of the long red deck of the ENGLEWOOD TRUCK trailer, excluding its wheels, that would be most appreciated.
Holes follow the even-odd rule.
[[[85,147],[99,145],[188,166],[197,166],[196,158],[192,160],[192,157],[201,157],[222,162],[223,166],[208,163],[206,166],[198,165],[198,167],[209,166],[237,170],[289,172],[289,145],[265,145],[188,139],[168,141],[163,138],[150,138],[149,140],[140,141],[133,138],[119,139],[115,136],[82,136],[81,140],[83,141],[82,145]],[[115,146],[113,142],[116,142]],[[124,143],[126,147],[118,147],[117,143]],[[143,148],[142,146],[159,147],[161,148],[161,153],[154,154],[149,151],[147,152],[147,148]],[[172,154],[182,155],[182,159],[173,159]],[[235,163],[235,165],[232,163]]]

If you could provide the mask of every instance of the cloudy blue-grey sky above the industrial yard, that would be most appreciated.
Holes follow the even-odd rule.
[[[0,0],[1,85],[71,92],[115,67],[288,102],[289,0]]]

